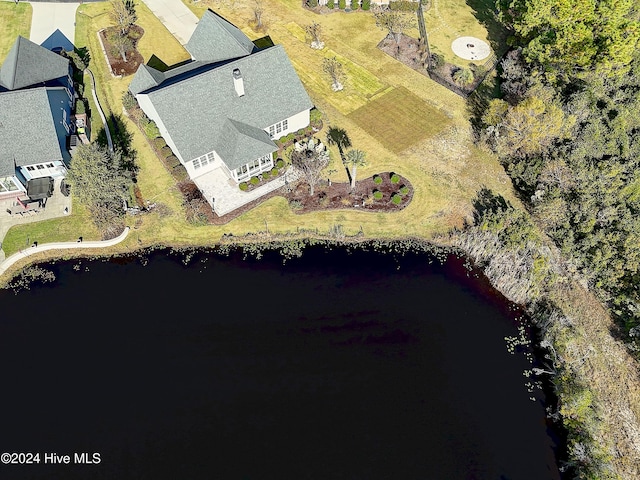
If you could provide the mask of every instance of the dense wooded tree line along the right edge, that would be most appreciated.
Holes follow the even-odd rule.
[[[514,49],[480,137],[640,350],[637,3],[498,0]]]

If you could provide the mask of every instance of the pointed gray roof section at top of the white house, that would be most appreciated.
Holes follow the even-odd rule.
[[[204,12],[185,48],[203,62],[244,57],[256,49],[242,31],[211,10]]]

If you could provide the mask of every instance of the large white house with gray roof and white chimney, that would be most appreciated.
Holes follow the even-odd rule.
[[[191,62],[140,65],[129,91],[191,179],[219,169],[239,183],[273,168],[273,140],[307,127],[313,108],[282,46],[260,49],[208,10],[185,47]]]

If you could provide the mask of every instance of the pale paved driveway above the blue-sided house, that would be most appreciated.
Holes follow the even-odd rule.
[[[57,30],[75,43],[76,9],[79,3],[30,2],[33,8],[29,40],[40,45]]]

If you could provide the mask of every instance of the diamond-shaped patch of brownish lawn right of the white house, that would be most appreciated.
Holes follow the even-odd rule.
[[[436,135],[451,123],[444,113],[405,87],[377,97],[349,118],[394,153]]]

